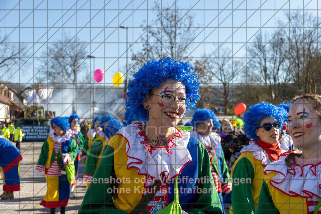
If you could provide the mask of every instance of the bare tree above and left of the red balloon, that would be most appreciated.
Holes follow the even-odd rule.
[[[221,100],[224,107],[224,114],[231,104],[234,96],[233,82],[241,77],[244,62],[241,59],[233,58],[231,50],[226,47],[219,47],[211,57],[204,56],[204,60],[195,62],[195,67],[201,76],[204,76],[205,85],[210,86],[214,97],[207,98],[209,102]]]

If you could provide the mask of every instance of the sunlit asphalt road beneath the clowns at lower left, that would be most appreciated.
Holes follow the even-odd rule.
[[[20,165],[21,190],[14,192],[13,199],[0,200],[0,213],[48,213],[49,209],[39,205],[47,191],[44,173],[34,175],[43,142],[22,142],[22,161]],[[79,166],[79,178],[83,177],[85,167]],[[0,180],[0,194],[2,194],[3,179]],[[86,192],[86,184],[77,183],[74,194],[76,198],[70,199],[65,210],[66,213],[77,213]],[[56,213],[60,209],[56,208]]]

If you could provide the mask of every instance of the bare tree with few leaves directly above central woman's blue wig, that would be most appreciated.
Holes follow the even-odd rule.
[[[141,25],[146,26],[143,28],[145,36],[141,38],[143,49],[133,54],[134,66],[140,68],[147,61],[166,57],[187,60],[188,50],[195,38],[193,17],[178,8],[161,8],[157,2],[153,10],[156,11],[157,19]],[[146,20],[144,22],[146,24]]]

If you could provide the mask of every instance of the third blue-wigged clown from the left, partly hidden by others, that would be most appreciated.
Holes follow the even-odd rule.
[[[92,120],[92,129],[88,130],[85,141],[83,143],[82,154],[80,160],[84,165],[86,165],[87,154],[89,154],[89,150],[91,148],[92,142],[99,137],[104,136],[104,130],[100,126],[101,116],[96,116],[95,119]]]

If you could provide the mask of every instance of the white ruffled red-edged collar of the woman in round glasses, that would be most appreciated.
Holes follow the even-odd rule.
[[[174,137],[167,142],[168,147],[152,148],[143,134],[141,123],[130,124],[118,131],[126,141],[127,169],[137,168],[139,175],[148,175],[161,180],[165,173],[167,179],[179,175],[186,164],[192,161],[187,149],[190,134],[177,128]]]

